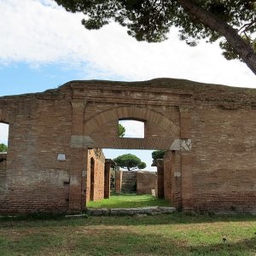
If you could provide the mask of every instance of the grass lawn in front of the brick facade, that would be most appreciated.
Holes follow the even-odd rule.
[[[0,255],[255,255],[255,232],[250,215],[0,220]]]

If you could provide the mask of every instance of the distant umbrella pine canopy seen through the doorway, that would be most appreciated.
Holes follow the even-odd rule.
[[[146,168],[146,164],[135,154],[122,154],[113,159],[113,161],[116,162],[118,166],[128,171]]]

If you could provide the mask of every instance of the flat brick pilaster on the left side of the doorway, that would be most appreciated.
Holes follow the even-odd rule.
[[[84,107],[85,102],[72,103],[72,136],[84,134]],[[70,212],[79,212],[85,207],[85,176],[87,150],[81,147],[71,148],[71,168],[69,184],[69,207]],[[82,178],[83,176],[83,178]]]

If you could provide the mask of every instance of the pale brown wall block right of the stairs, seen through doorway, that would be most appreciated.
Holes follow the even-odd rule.
[[[157,190],[156,172],[138,171],[137,172],[137,195],[151,195],[152,189]]]

